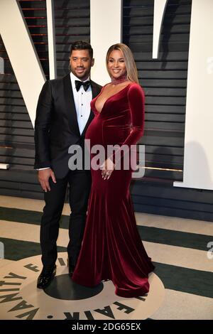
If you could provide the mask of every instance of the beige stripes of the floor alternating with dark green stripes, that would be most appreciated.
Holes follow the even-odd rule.
[[[42,200],[24,198],[9,198],[0,196],[0,206],[22,210],[43,210]],[[65,204],[63,215],[70,215],[70,207]],[[202,220],[187,220],[178,217],[165,217],[136,212],[137,225],[158,227],[165,230],[188,232],[208,235],[213,242],[213,223]],[[39,242],[39,225],[0,220],[0,236],[4,238]],[[66,247],[68,242],[67,230],[60,229],[58,245]],[[213,259],[207,257],[207,251],[176,247],[156,242],[143,242],[153,262],[174,266],[213,271]],[[207,249],[208,250],[208,249]],[[0,259],[0,267],[11,264],[7,259]],[[156,311],[153,319],[213,319],[213,299],[193,295],[181,291],[165,289],[163,305]]]

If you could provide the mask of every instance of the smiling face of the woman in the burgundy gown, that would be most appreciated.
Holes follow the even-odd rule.
[[[120,50],[113,50],[109,54],[107,68],[109,75],[118,79],[121,75],[126,74],[126,64],[124,55]]]

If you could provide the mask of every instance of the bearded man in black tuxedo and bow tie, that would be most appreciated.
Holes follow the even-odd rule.
[[[71,145],[80,145],[84,151],[84,135],[94,117],[91,99],[101,86],[89,80],[94,65],[89,43],[72,43],[71,72],[65,77],[48,80],[38,99],[35,118],[35,168],[44,190],[45,207],[40,225],[40,245],[43,270],[37,287],[44,289],[55,276],[59,220],[70,185],[70,242],[67,246],[69,272],[75,269],[80,253],[87,202],[91,186],[90,171],[70,170],[68,161]]]

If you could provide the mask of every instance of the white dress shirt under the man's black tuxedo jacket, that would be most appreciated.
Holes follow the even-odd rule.
[[[84,127],[87,124],[90,114],[90,102],[92,101],[92,88],[89,86],[88,90],[85,92],[84,87],[81,86],[80,90],[77,92],[75,88],[75,80],[80,80],[76,77],[72,72],[70,72],[70,80],[72,83],[72,92],[75,102],[75,109],[77,114],[77,123],[79,127],[80,134],[84,131]],[[89,80],[89,77],[87,78]],[[84,80],[84,81],[87,81]],[[71,110],[70,110],[71,112]],[[42,169],[48,169],[50,167],[39,168],[37,171],[41,171]]]

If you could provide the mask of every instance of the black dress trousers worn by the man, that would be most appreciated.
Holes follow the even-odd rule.
[[[69,171],[65,178],[56,179],[53,183],[50,178],[50,191],[44,193],[45,207],[40,225],[40,246],[43,266],[48,268],[55,264],[57,259],[57,245],[59,222],[65,202],[67,185],[70,185],[70,242],[67,246],[68,257],[72,264],[76,264],[80,253],[84,227],[87,217],[87,205],[91,188],[90,171]]]

